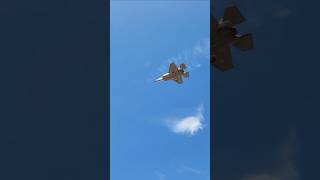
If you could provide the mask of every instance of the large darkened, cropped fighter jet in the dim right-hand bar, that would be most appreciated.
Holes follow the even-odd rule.
[[[210,64],[221,71],[233,68],[230,46],[241,51],[253,49],[252,34],[239,35],[235,28],[244,21],[245,18],[236,6],[226,8],[219,22],[210,16]]]

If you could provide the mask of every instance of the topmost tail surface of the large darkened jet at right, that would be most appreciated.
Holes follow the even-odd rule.
[[[231,22],[232,26],[243,23],[246,19],[241,15],[239,9],[236,6],[228,7],[224,11],[224,21]]]

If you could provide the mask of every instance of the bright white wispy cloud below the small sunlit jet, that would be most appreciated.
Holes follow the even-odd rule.
[[[203,105],[197,108],[197,113],[181,119],[171,118],[167,120],[170,130],[176,134],[195,135],[203,129]]]

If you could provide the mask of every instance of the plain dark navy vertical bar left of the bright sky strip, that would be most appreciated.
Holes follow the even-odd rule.
[[[109,179],[109,0],[0,13],[0,179]]]

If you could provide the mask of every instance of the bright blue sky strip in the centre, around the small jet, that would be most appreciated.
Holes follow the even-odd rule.
[[[111,1],[111,179],[208,180],[209,1]],[[170,62],[182,85],[155,83]]]

